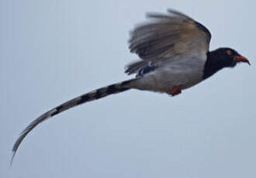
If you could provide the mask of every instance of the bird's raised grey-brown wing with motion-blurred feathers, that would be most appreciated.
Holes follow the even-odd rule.
[[[130,52],[137,53],[141,60],[171,60],[175,56],[197,55],[209,50],[209,30],[189,16],[168,9],[168,14],[150,13],[147,18],[150,22],[137,26],[129,41]],[[147,62],[140,61],[138,65],[142,63]],[[134,64],[129,67],[134,68]]]

